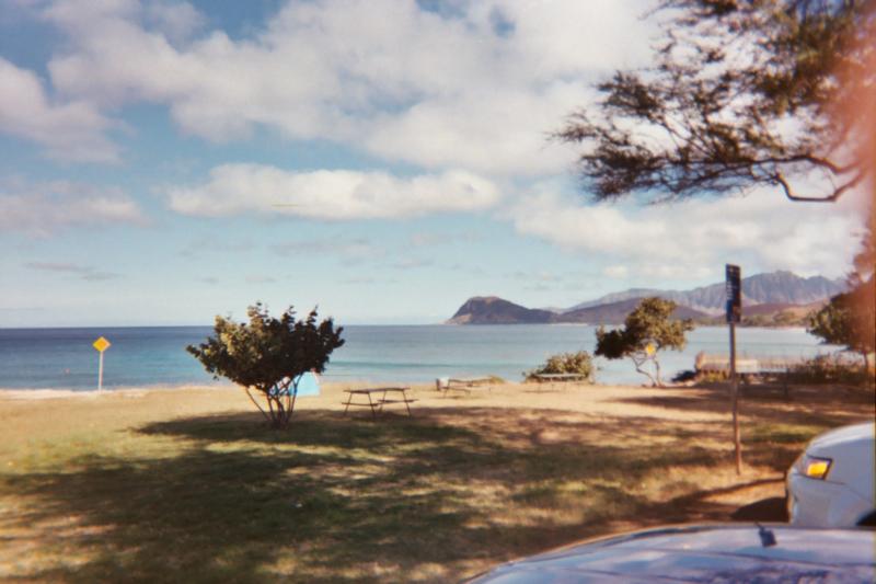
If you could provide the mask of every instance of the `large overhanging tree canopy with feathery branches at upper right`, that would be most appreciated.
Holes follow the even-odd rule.
[[[655,66],[615,72],[556,134],[580,145],[597,199],[775,186],[835,201],[873,172],[875,0],[662,0],[657,13]]]

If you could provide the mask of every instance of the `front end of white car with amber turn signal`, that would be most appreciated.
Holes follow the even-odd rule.
[[[793,525],[874,525],[874,423],[832,430],[812,438],[787,472]]]

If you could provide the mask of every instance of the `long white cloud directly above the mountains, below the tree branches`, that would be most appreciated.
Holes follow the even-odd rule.
[[[589,205],[541,192],[508,216],[520,233],[589,252],[603,274],[660,279],[708,277],[726,262],[747,271],[843,276],[861,241],[863,193],[835,205],[788,202],[781,193],[699,198],[671,205]]]

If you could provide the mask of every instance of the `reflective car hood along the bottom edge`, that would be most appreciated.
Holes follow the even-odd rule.
[[[512,562],[474,582],[874,581],[872,530],[766,530],[734,525],[639,531]]]

